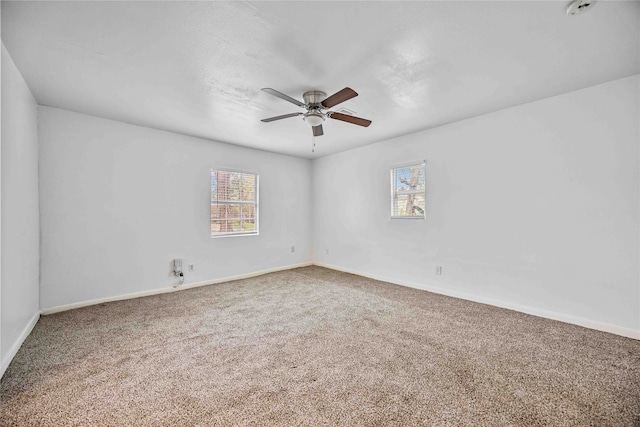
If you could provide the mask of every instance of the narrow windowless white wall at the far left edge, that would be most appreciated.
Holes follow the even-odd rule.
[[[0,375],[37,321],[38,110],[2,45]]]

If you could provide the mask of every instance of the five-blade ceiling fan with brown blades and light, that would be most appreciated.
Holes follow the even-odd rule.
[[[285,95],[282,92],[278,92],[275,89],[266,87],[262,88],[262,90],[270,95],[277,96],[280,99],[289,101],[290,103],[307,110],[306,113],[290,113],[283,114],[282,116],[262,119],[262,121],[265,123],[286,119],[289,117],[303,116],[304,121],[311,125],[311,128],[313,129],[313,136],[324,135],[324,132],[322,131],[322,123],[327,117],[329,117],[330,119],[341,120],[343,122],[353,123],[354,125],[364,127],[367,127],[371,124],[371,120],[361,119],[360,117],[355,117],[349,114],[329,111],[329,108],[358,96],[358,93],[355,90],[348,87],[345,87],[344,89],[334,93],[328,98],[327,94],[322,91],[310,90],[302,94],[302,99],[304,99],[304,102],[300,102],[295,98],[291,98],[290,96]]]

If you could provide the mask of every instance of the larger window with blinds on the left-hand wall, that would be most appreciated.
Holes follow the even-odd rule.
[[[211,237],[258,234],[258,175],[211,170]]]

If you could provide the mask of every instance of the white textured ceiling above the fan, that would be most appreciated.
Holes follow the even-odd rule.
[[[314,158],[640,72],[640,3],[2,2],[39,104]],[[311,152],[302,100],[349,86]]]

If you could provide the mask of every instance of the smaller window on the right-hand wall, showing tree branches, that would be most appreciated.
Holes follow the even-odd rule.
[[[425,164],[391,168],[391,218],[425,217]]]

